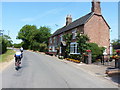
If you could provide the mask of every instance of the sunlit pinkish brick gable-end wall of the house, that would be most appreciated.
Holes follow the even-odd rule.
[[[84,25],[84,34],[88,35],[90,42],[97,43],[99,46],[106,46],[107,54],[110,53],[109,27],[102,16],[93,15]]]

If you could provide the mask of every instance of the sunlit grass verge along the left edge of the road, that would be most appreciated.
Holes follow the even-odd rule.
[[[0,55],[0,63],[7,62],[14,58],[15,51],[12,49],[8,49],[6,53]]]

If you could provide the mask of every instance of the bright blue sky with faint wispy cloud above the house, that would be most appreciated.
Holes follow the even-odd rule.
[[[111,27],[110,37],[118,38],[118,3],[102,2],[102,15]],[[53,33],[65,25],[67,14],[73,21],[91,11],[91,2],[2,2],[2,27],[14,43],[19,43],[16,36],[26,24],[48,26]],[[56,24],[58,26],[56,26]]]

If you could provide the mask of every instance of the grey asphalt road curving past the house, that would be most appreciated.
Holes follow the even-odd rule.
[[[24,51],[21,69],[11,64],[2,72],[2,88],[117,88],[68,63]]]

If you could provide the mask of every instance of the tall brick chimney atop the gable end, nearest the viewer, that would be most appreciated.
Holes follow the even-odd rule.
[[[95,14],[101,15],[101,7],[99,0],[92,0],[92,8],[91,11]]]

